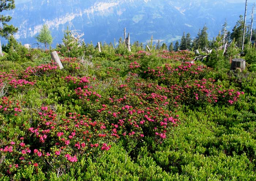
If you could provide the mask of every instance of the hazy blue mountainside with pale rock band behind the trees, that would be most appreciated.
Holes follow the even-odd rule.
[[[248,1],[249,14],[253,1]],[[123,37],[123,29],[131,41],[170,43],[190,33],[195,37],[204,24],[208,36],[216,37],[225,19],[232,30],[239,15],[244,15],[244,0],[15,0],[16,8],[6,11],[11,24],[19,28],[15,37],[22,44],[36,43],[43,24],[47,24],[54,41],[61,43],[67,29],[84,32],[84,41],[116,42]],[[4,41],[4,39],[2,39]]]

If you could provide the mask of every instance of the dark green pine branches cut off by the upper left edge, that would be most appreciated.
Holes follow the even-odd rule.
[[[15,8],[14,0],[1,0],[0,1],[0,12],[12,10]],[[0,15],[0,36],[4,38],[8,38],[9,35],[13,35],[18,31],[18,28],[14,27],[13,25],[8,25],[12,19],[11,16],[8,15]]]

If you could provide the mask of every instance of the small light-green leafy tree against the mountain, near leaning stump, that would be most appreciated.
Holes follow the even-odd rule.
[[[53,40],[51,32],[46,24],[43,25],[42,29],[39,32],[39,35],[37,35],[35,38],[38,42],[45,45],[45,50],[47,45],[50,46],[52,44]]]

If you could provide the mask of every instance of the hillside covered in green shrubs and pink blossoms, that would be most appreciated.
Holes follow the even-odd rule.
[[[0,60],[0,180],[256,180],[253,65],[59,56],[62,70],[49,51]]]

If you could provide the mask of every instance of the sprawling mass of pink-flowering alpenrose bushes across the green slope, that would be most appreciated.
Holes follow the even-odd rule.
[[[148,55],[142,53],[142,56]],[[180,116],[176,111],[180,107],[229,106],[243,94],[205,78],[209,69],[202,65],[166,64],[142,72],[139,57],[138,61],[137,57],[131,57],[130,61],[127,64],[130,72],[122,79],[112,74],[114,71],[110,72],[109,67],[110,81],[107,87],[102,87],[106,84],[95,76],[78,74],[80,66],[76,59],[65,59],[67,71],[61,73],[62,86],[70,93],[65,98],[72,99],[67,101],[68,106],[81,108],[77,113],[68,109],[67,114],[57,112],[54,105],[42,105],[29,110],[30,116],[25,118],[25,106],[14,98],[1,98],[0,117],[5,121],[1,125],[0,176],[14,179],[29,167],[31,175],[41,171],[54,172],[59,177],[88,157],[100,157],[113,143],[129,147],[125,148],[128,154],[142,142],[147,146],[153,142],[161,145],[170,130],[178,125]],[[21,81],[20,89],[12,87],[23,93],[24,85],[33,88],[33,85],[39,86],[36,80],[44,80],[45,76],[54,79],[56,73],[60,73],[57,69],[55,63],[44,64],[21,73],[7,73],[8,76],[3,73],[1,80],[9,83],[12,76],[33,82]],[[138,73],[144,74],[145,79]],[[15,129],[19,132],[11,134]]]

